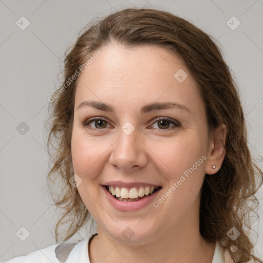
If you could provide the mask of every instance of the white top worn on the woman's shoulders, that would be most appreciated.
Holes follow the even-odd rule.
[[[90,263],[88,257],[89,240],[91,234],[83,241],[78,243],[62,243],[61,245],[52,245],[44,249],[36,250],[26,256],[15,257],[3,263]],[[224,261],[224,250],[218,241],[216,241],[215,252],[212,263],[226,263]]]

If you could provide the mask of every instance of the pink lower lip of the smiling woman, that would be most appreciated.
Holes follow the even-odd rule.
[[[141,200],[138,201],[119,201],[116,199],[114,196],[112,196],[108,190],[106,189],[105,186],[102,186],[103,191],[105,192],[110,204],[117,210],[122,211],[122,212],[127,212],[127,211],[136,211],[139,209],[142,209],[144,206],[147,204],[153,202],[153,199],[156,197],[156,195],[159,193],[161,190],[158,189],[156,192],[154,192],[152,195],[149,195],[147,197],[144,197]]]

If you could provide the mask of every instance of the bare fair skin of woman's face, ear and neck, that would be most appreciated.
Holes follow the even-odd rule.
[[[200,189],[204,175],[216,176],[223,162],[226,125],[214,130],[208,141],[198,84],[185,63],[167,49],[124,48],[112,42],[100,50],[78,79],[71,140],[74,174],[82,179],[78,191],[98,228],[88,249],[90,262],[211,263],[215,243],[199,233]],[[182,83],[174,78],[179,69],[187,73]],[[116,112],[77,109],[86,100],[111,104]],[[177,102],[191,114],[170,108],[141,115],[140,108],[152,102]],[[103,128],[95,121],[84,126],[91,117],[107,122]],[[180,126],[160,124],[157,117]],[[127,121],[135,127],[130,135],[121,129]],[[110,180],[149,182],[162,186],[154,199],[158,201],[203,155],[206,160],[158,208],[150,203],[120,212],[101,187]],[[129,240],[122,235],[127,227],[134,232]]]

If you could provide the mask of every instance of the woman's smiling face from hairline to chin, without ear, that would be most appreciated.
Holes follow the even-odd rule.
[[[78,191],[98,231],[146,243],[198,222],[205,108],[190,71],[167,49],[111,43],[100,50],[76,89]]]

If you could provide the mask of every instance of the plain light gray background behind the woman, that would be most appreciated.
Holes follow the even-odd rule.
[[[240,88],[252,156],[262,156],[262,0],[0,1],[0,260],[55,243],[54,208],[46,186],[48,154],[44,121],[48,117],[48,97],[59,88],[58,73],[66,48],[97,16],[144,5],[171,11],[218,40]],[[22,16],[30,22],[25,30],[16,25]],[[232,16],[241,23],[235,30],[227,24]],[[231,23],[232,27],[237,25],[237,21]],[[18,126],[23,128],[25,124],[21,122],[29,127],[24,135]],[[263,168],[262,162],[259,165]],[[254,224],[259,235],[256,254],[263,257],[262,189],[257,196],[261,219]],[[21,227],[30,232],[25,241],[16,235]],[[26,232],[22,229],[18,233]],[[83,228],[70,240],[84,239],[87,234]]]

